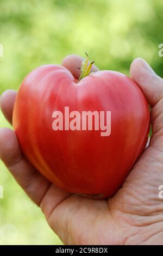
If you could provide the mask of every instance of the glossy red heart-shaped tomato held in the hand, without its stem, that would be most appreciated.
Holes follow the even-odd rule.
[[[111,135],[101,131],[54,131],[52,113],[111,111]],[[79,82],[66,68],[45,65],[22,82],[13,125],[23,154],[58,187],[87,197],[107,198],[121,187],[145,149],[148,103],[131,78],[98,71]]]

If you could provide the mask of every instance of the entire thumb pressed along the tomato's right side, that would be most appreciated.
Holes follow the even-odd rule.
[[[161,149],[163,147],[163,80],[157,76],[152,68],[141,58],[137,58],[131,64],[131,77],[137,82],[152,106],[151,123],[152,138],[150,145]]]

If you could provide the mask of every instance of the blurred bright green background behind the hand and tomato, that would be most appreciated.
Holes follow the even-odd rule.
[[[162,0],[0,0],[0,93],[18,89],[29,71],[89,53],[99,69],[129,75],[143,57],[163,76]],[[0,112],[0,127],[10,127]],[[0,245],[57,245],[57,235],[0,162]]]

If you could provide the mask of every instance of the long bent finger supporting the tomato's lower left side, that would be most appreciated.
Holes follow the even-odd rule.
[[[43,198],[48,202],[46,194],[51,188],[51,182],[24,158],[15,132],[7,128],[0,129],[0,157],[18,184],[37,205],[41,204]],[[65,193],[59,188],[53,189],[53,206],[67,196]]]

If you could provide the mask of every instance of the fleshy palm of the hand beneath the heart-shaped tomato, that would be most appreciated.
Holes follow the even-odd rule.
[[[153,172],[153,164],[155,168],[161,164],[154,157],[156,151],[151,146],[143,153],[114,197],[97,201],[73,194],[57,207],[54,205],[54,210],[46,216],[49,225],[59,234],[62,241],[66,244],[84,245],[143,244],[142,237],[137,239],[137,235],[143,233],[147,224],[151,225],[151,229],[143,233],[143,239],[146,241],[155,228],[152,225],[151,215],[157,215],[158,208],[159,215],[163,214],[163,207],[158,200],[159,173],[150,176]],[[161,184],[161,169],[159,179]],[[153,192],[152,202],[151,192]],[[61,226],[55,225],[57,222],[61,223]],[[67,227],[64,233],[61,227]],[[153,239],[154,243],[158,243],[158,237]]]

